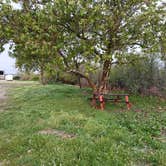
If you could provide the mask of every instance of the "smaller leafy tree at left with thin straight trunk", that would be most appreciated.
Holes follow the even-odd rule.
[[[13,11],[10,22],[11,28],[14,28],[11,35],[13,41],[11,56],[16,58],[19,68],[39,71],[41,82],[45,84],[45,71],[50,66],[56,66],[54,46],[57,30],[51,24],[47,10],[41,9],[35,2],[22,1],[22,9]]]

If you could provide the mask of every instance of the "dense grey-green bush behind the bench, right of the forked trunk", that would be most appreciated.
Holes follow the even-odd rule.
[[[156,95],[163,95],[166,71],[161,68],[159,60],[151,56],[136,64],[115,66],[111,71],[110,84],[111,87],[126,89],[132,93],[149,94],[155,89]]]

